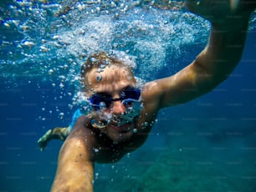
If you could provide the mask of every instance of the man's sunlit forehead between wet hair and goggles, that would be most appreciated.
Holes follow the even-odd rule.
[[[127,86],[135,86],[134,74],[128,68],[110,65],[100,70],[101,72],[99,72],[99,68],[93,68],[87,73],[86,81],[90,84],[90,89],[92,89],[89,93],[119,92]]]

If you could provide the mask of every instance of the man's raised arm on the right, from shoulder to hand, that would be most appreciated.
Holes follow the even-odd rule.
[[[228,78],[242,57],[248,20],[255,7],[256,1],[187,0],[189,11],[212,23],[207,46],[180,72],[148,83],[146,96],[159,100],[156,105],[161,109],[195,99]]]

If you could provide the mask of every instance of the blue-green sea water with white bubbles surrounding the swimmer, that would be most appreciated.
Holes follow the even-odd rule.
[[[99,14],[103,5],[78,11],[82,5],[70,3],[73,10],[53,17],[54,3],[1,3],[0,191],[49,191],[62,142],[41,152],[37,140],[70,123],[83,55],[123,54],[136,63],[136,77],[149,81],[176,73],[207,43],[208,23],[182,10],[124,2],[126,12],[119,4]],[[161,110],[136,152],[96,164],[95,191],[256,191],[254,22],[250,28],[231,77],[199,99]]]

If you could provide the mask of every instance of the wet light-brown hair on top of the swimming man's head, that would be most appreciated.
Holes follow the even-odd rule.
[[[120,60],[116,58],[109,57],[105,52],[94,53],[90,55],[86,62],[81,67],[81,81],[84,84],[88,79],[86,78],[87,73],[94,68],[100,68],[104,70],[105,67],[115,65],[119,66],[120,68],[126,68],[129,73],[133,74],[132,68],[127,66],[125,63],[122,63]],[[88,88],[86,84],[84,84],[85,90]]]

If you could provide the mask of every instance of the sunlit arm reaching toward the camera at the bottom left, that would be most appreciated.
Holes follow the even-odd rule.
[[[93,191],[94,164],[90,133],[79,119],[59,152],[58,168],[51,191]]]

